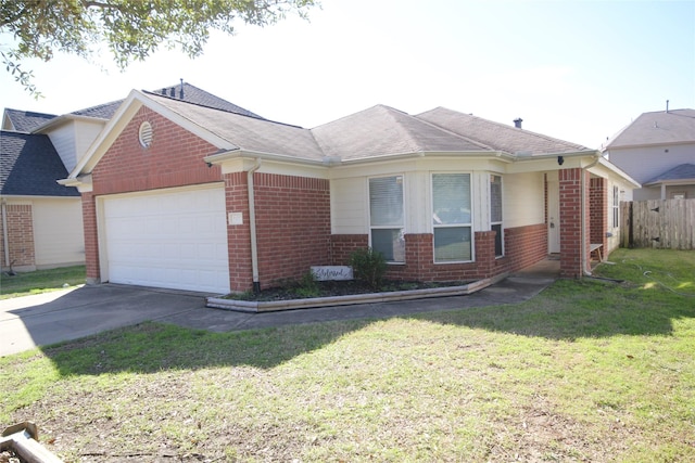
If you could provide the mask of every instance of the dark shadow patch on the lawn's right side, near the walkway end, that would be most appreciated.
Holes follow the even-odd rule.
[[[418,319],[548,339],[668,336],[673,321],[695,318],[695,298],[666,290],[560,280],[519,305],[418,316]]]

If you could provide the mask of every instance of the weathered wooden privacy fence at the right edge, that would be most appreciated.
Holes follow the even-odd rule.
[[[695,200],[621,202],[620,246],[695,249]]]

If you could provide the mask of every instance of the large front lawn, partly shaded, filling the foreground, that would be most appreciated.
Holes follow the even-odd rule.
[[[695,253],[610,260],[595,273],[623,283],[520,305],[144,323],[1,358],[0,424],[36,422],[65,461],[693,461]]]

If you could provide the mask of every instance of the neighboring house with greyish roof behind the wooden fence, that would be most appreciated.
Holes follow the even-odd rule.
[[[644,113],[604,153],[642,184],[635,201],[695,198],[695,110]]]

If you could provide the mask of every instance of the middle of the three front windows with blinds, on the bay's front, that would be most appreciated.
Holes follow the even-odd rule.
[[[472,260],[470,173],[432,175],[434,262]]]

